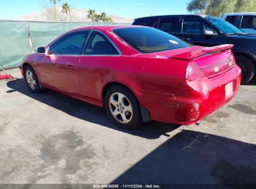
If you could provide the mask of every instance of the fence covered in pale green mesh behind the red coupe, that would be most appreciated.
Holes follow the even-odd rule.
[[[109,22],[0,21],[0,69],[16,68],[36,47],[45,46],[65,32],[89,25],[127,25]]]

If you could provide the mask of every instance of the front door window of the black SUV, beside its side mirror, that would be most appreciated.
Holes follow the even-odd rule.
[[[201,19],[196,19],[196,18],[183,19],[183,31],[182,31],[183,34],[203,34],[204,30],[211,30],[215,32],[210,25],[201,21]]]

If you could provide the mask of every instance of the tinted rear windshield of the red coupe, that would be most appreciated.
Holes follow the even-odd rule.
[[[183,40],[152,27],[128,27],[113,30],[139,52],[151,53],[191,46]]]

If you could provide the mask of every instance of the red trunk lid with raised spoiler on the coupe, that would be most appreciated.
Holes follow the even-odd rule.
[[[192,67],[194,67],[192,78],[201,78],[202,74],[199,77],[195,74],[202,71],[204,77],[209,77],[233,67],[235,65],[234,55],[231,52],[233,46],[229,44],[215,47],[192,46],[163,52],[141,53],[136,57],[176,59],[189,62],[190,68],[188,70],[192,70]]]

